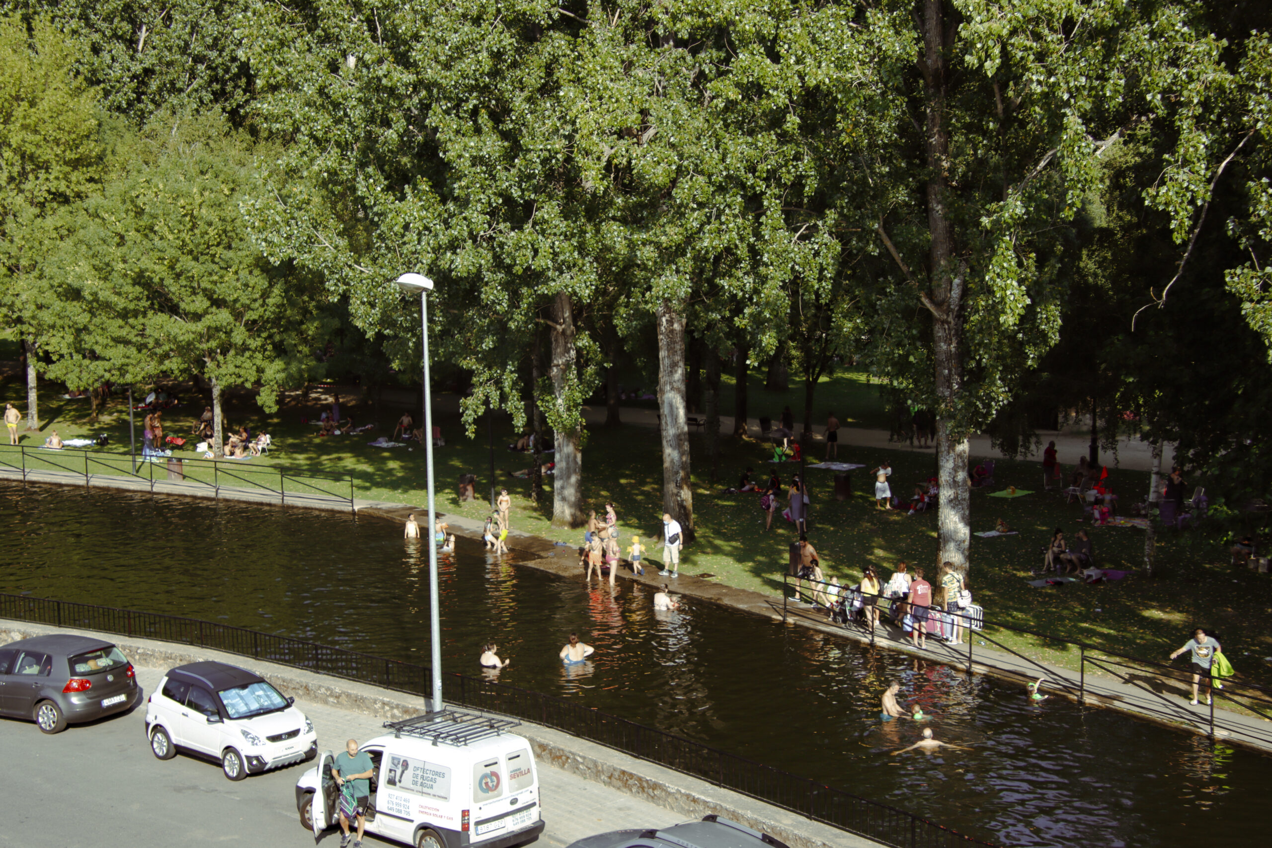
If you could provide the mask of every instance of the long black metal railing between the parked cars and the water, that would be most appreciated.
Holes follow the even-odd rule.
[[[429,667],[192,618],[0,594],[0,618],[176,642],[431,697]],[[887,804],[556,695],[449,673],[448,702],[502,713],[658,763],[894,848],[991,845]]]

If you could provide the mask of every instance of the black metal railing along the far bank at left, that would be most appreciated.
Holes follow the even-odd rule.
[[[145,484],[151,495],[155,486],[163,483],[186,484],[184,492],[167,493],[209,493],[221,497],[223,489],[243,489],[275,495],[280,502],[312,505],[315,498],[335,498],[354,509],[354,478],[349,474],[315,474],[313,472],[285,468],[281,465],[252,465],[234,459],[201,459],[198,456],[164,456],[151,453],[145,456],[117,454],[97,450],[74,450],[64,448],[28,448],[27,445],[0,445],[0,469],[19,472],[23,482],[33,474],[51,473],[50,477],[36,477],[41,482],[59,482],[59,478],[84,486],[114,484],[118,479],[135,481]],[[158,472],[158,477],[156,477]],[[74,478],[74,479],[73,479]],[[111,481],[109,478],[117,478]],[[289,488],[290,487],[290,488]]]

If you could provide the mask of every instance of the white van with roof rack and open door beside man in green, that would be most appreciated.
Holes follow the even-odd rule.
[[[384,722],[361,744],[374,772],[366,831],[416,848],[510,848],[543,831],[534,753],[508,732],[520,722],[443,709]],[[296,781],[300,823],[318,838],[337,824],[335,758]]]

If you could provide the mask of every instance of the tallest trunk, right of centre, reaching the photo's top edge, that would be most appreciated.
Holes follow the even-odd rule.
[[[936,365],[936,474],[940,500],[936,515],[936,566],[949,562],[967,573],[971,545],[971,483],[967,477],[967,434],[953,417],[963,388],[963,332],[959,306],[965,268],[955,268],[954,234],[946,209],[949,191],[949,131],[945,127],[945,1],[923,0],[925,153],[927,229],[931,235],[932,355]]]

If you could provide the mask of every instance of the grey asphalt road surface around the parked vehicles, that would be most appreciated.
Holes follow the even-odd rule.
[[[53,736],[34,722],[0,718],[0,847],[186,848],[253,845],[313,848],[300,826],[295,783],[309,768],[298,763],[232,782],[219,763],[177,754],[155,759],[145,739],[145,695],[163,673],[137,669],[142,697],[131,713],[71,725]],[[318,727],[319,750],[346,739],[366,741],[379,720],[326,704],[298,702]],[[555,768],[539,768],[539,801],[547,828],[534,848],[565,848],[607,830],[665,828],[684,816]],[[322,848],[340,845],[340,830],[323,833]],[[368,835],[368,848],[401,843]]]

